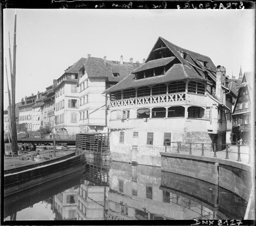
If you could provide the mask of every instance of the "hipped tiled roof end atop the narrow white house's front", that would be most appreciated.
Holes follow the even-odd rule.
[[[89,57],[86,60],[84,66],[85,66],[85,70],[87,72],[88,77],[99,78],[99,77],[107,76],[106,67],[104,64],[104,60],[102,58]]]

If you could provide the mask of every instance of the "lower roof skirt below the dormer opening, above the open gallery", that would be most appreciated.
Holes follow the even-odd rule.
[[[164,82],[177,81],[186,78],[200,79],[206,81],[205,78],[199,76],[193,69],[184,66],[183,64],[174,64],[165,75],[154,76],[150,78],[135,79],[135,75],[130,74],[115,86],[105,90],[104,93],[113,92],[122,89],[129,89],[140,86],[148,86],[151,84],[159,84]]]

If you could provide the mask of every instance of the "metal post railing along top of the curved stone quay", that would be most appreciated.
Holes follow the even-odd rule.
[[[251,163],[250,145],[206,144],[165,141],[164,148],[165,152],[224,158],[236,160],[237,162],[245,162],[249,164]]]

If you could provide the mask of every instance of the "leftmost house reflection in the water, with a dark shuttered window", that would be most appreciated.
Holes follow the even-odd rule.
[[[77,219],[77,188],[78,186],[75,186],[54,195],[54,213],[56,213],[56,220]]]

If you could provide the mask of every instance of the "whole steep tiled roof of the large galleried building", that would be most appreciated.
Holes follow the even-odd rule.
[[[156,44],[155,44],[155,46],[151,50],[150,55],[146,60],[146,63],[140,66],[134,72],[163,66],[164,63],[167,63],[167,61],[170,62],[170,60],[172,60],[174,64],[165,73],[165,75],[160,75],[160,76],[155,76],[150,78],[143,78],[143,79],[135,79],[135,76],[131,74],[126,78],[124,78],[119,83],[117,83],[115,86],[112,86],[109,89],[105,90],[105,93],[122,90],[122,89],[128,89],[132,87],[147,86],[150,84],[152,85],[152,84],[159,84],[163,82],[177,81],[180,79],[187,79],[187,78],[207,81],[207,79],[205,79],[205,76],[204,76],[204,71],[207,71],[213,80],[216,79],[216,67],[208,56],[204,56],[199,53],[195,53],[190,50],[183,49],[179,46],[174,45],[173,43],[170,43],[169,41],[165,40],[162,37],[159,37],[156,43],[158,43],[158,41],[160,40],[162,40],[162,42],[168,47],[168,49],[170,49],[170,51],[173,53],[174,56],[161,58],[158,60],[150,60],[152,59],[151,54],[154,48],[156,47]],[[186,59],[184,59],[180,55],[179,51],[187,53]],[[177,59],[177,60],[174,61],[174,59]],[[204,67],[204,61],[207,62],[205,67]]]

